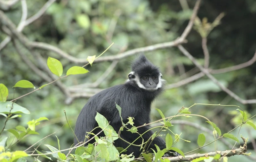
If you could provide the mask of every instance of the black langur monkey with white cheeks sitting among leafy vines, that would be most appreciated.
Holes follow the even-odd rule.
[[[85,135],[87,135],[86,132],[90,132],[93,128],[98,127],[95,120],[96,112],[99,112],[110,121],[110,125],[118,132],[120,127],[122,127],[122,122],[116,109],[116,104],[122,108],[121,116],[124,123],[127,123],[128,117],[134,117],[133,122],[136,127],[149,123],[151,103],[163,91],[164,80],[162,77],[158,68],[149,62],[145,55],[140,55],[132,64],[132,72],[129,73],[129,80],[126,83],[101,91],[92,96],[85,104],[76,120],[75,134],[78,140],[84,141]],[[138,128],[138,132],[143,134],[149,128],[148,126],[140,127]],[[95,129],[93,133],[97,134],[100,130],[100,128]],[[144,134],[142,136],[144,141],[147,141],[152,134],[152,131]],[[125,129],[120,135],[130,143],[139,137],[137,133],[131,133]],[[92,135],[89,136],[92,137]],[[99,136],[105,135],[102,132]],[[92,140],[90,142],[93,143],[95,141]],[[74,143],[78,143],[76,138],[74,139]],[[139,138],[134,144],[139,145],[141,143],[142,139]],[[161,150],[166,148],[165,142],[161,137],[157,136],[149,146],[156,150],[154,144],[159,146]],[[129,144],[118,138],[114,141],[114,145],[116,147],[126,148]],[[141,153],[140,147],[131,145],[125,154],[129,155],[132,152],[138,158]],[[174,152],[174,156],[177,155],[179,154]]]

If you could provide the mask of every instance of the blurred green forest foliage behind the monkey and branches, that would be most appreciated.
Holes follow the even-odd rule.
[[[47,1],[27,0],[26,2],[29,18],[38,12]],[[47,42],[69,55],[81,59],[92,55],[98,56],[114,42],[114,45],[103,55],[112,56],[127,50],[175,40],[188,25],[194,5],[194,0],[57,0],[41,17],[25,26],[22,33],[30,41]],[[18,2],[4,13],[14,24],[18,25],[21,19],[21,10],[20,2]],[[207,18],[208,22],[213,22],[222,12],[225,15],[220,20],[220,25],[214,27],[207,36],[210,69],[220,69],[247,62],[252,59],[256,49],[256,1],[204,0],[201,2],[197,16],[201,20]],[[1,31],[0,43],[6,36]],[[184,48],[201,65],[204,65],[201,35],[193,28],[187,40],[188,42],[183,44]],[[36,49],[34,53],[31,53],[19,42],[16,42],[16,46],[26,58],[43,71],[48,56],[59,59],[63,64],[64,71],[71,66],[84,65],[84,63],[71,61],[49,50]],[[167,85],[200,72],[177,47],[144,53],[152,63],[160,67]],[[42,116],[47,117],[49,121],[43,121],[36,127],[40,135],[30,135],[12,147],[12,150],[25,150],[63,125],[64,127],[55,135],[61,141],[61,148],[69,148],[73,143],[73,134],[67,125],[63,110],[66,111],[68,121],[74,128],[76,118],[90,96],[101,89],[122,84],[128,79],[128,74],[131,71],[130,64],[134,58],[136,55],[117,61],[95,63],[86,67],[90,73],[61,79],[59,84],[52,84],[19,99],[17,104],[26,107],[31,114],[23,114],[21,118],[8,121],[7,129],[18,124],[26,125],[29,120]],[[8,87],[8,99],[10,100],[13,98],[11,87],[19,80],[29,80],[36,87],[47,83],[23,59],[24,56],[18,54],[13,42],[9,42],[0,51],[0,82]],[[106,72],[106,69],[109,71]],[[104,73],[107,75],[102,78]],[[221,84],[241,98],[256,98],[256,63],[236,71],[213,75]],[[98,80],[99,78],[102,80]],[[60,88],[61,86],[64,88]],[[70,96],[73,96],[68,96],[65,90]],[[30,91],[31,89],[16,89],[15,97]],[[189,107],[194,103],[239,105],[249,114],[256,114],[255,104],[238,102],[204,76],[179,87],[168,88],[167,86],[164,93],[152,105],[151,119],[152,121],[161,119],[155,108],[161,109],[167,117],[174,115],[182,106]],[[191,112],[207,117],[222,132],[228,132],[236,127],[241,115],[236,111],[236,107],[207,105],[196,105]],[[4,120],[5,118],[0,116],[1,127]],[[179,120],[211,128],[202,118],[180,117]],[[177,134],[182,132],[182,138],[191,141],[191,143],[181,141],[175,147],[180,148],[183,152],[197,148],[197,136],[202,133],[202,130],[186,124],[174,123],[172,130]],[[252,152],[252,157],[255,157],[255,150],[253,150],[251,142],[256,139],[256,131],[249,128],[249,126],[243,126],[239,135],[249,137],[248,152]],[[237,129],[232,134],[237,135],[238,131]],[[4,132],[3,136],[5,135],[10,134]],[[206,141],[211,142],[213,139],[211,133],[207,134]],[[11,141],[12,139],[8,140],[9,143]],[[226,141],[231,146],[234,144],[232,140]],[[44,140],[38,150],[46,150],[44,144],[58,147],[54,135]],[[237,147],[239,144],[236,145]],[[204,153],[215,149],[229,150],[231,148],[218,141],[197,152]],[[233,162],[254,161],[245,156],[230,157],[229,160]]]

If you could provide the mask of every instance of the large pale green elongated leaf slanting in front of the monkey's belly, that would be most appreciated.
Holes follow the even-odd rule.
[[[103,132],[110,141],[115,141],[116,139],[118,139],[118,134],[116,133],[114,128],[108,124],[108,120],[103,115],[97,112],[95,120],[102,129],[106,127]]]

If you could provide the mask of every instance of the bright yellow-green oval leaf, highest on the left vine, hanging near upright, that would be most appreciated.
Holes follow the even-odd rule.
[[[52,73],[54,73],[57,76],[61,76],[63,73],[63,67],[59,60],[56,58],[48,57],[47,59],[47,66],[51,70]]]

